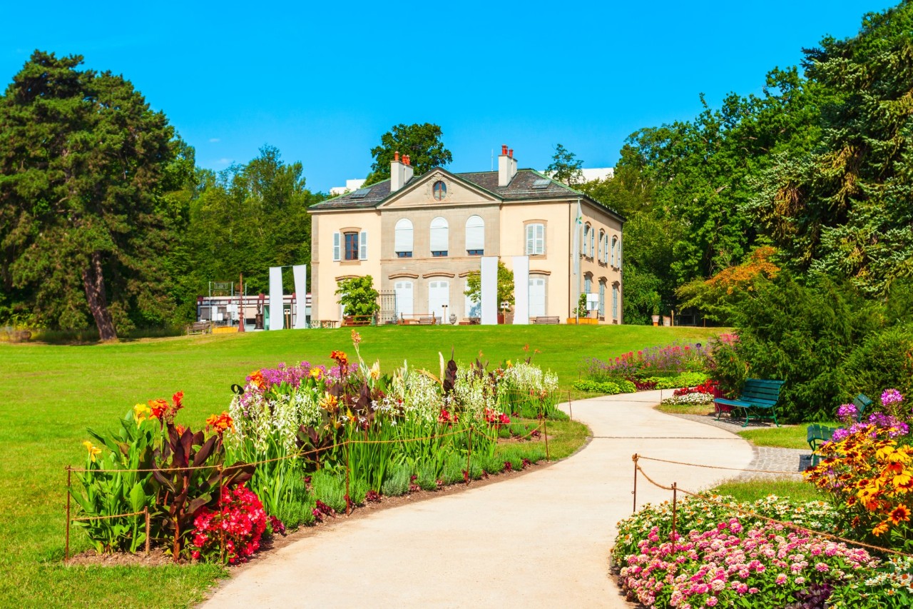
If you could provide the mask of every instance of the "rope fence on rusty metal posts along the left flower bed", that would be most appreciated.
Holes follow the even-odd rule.
[[[545,421],[546,421],[546,417],[542,417],[540,419],[540,422],[535,427],[533,427],[526,435],[515,436],[515,437],[517,440],[523,441],[523,440],[529,439],[534,433],[541,431],[542,437],[545,442],[545,458],[548,461],[548,460],[551,460],[551,454],[549,452],[549,439],[548,439],[548,433],[546,431]],[[492,443],[496,443],[496,444],[502,438],[499,438],[497,435],[489,436],[487,433],[484,433],[484,432],[478,430],[475,425],[469,425],[469,427],[464,430],[457,430],[457,431],[449,432],[449,433],[437,433],[437,434],[433,434],[433,435],[429,435],[429,436],[425,436],[425,437],[421,437],[421,438],[399,438],[399,439],[395,439],[395,440],[352,440],[352,439],[349,439],[349,440],[345,440],[344,442],[341,442],[341,443],[333,443],[331,446],[314,448],[314,449],[310,449],[307,451],[304,451],[304,450],[295,451],[294,453],[285,454],[283,456],[274,457],[272,459],[262,459],[260,461],[255,461],[255,462],[251,462],[251,463],[245,462],[245,463],[238,463],[235,465],[221,465],[221,464],[219,464],[219,465],[188,465],[186,467],[170,467],[170,468],[154,468],[153,467],[153,468],[144,468],[144,469],[88,469],[88,468],[82,468],[82,467],[72,467],[70,465],[67,465],[64,468],[65,471],[67,472],[67,525],[66,525],[66,533],[65,533],[66,538],[65,538],[65,542],[64,542],[64,561],[65,562],[69,561],[70,525],[72,523],[87,522],[87,521],[94,521],[94,520],[108,520],[111,518],[130,518],[133,516],[143,516],[145,518],[145,532],[146,532],[145,553],[148,555],[150,552],[150,542],[151,542],[150,536],[151,536],[151,529],[152,529],[151,524],[152,523],[151,523],[151,516],[150,516],[148,507],[143,508],[141,511],[134,511],[134,512],[124,513],[124,514],[110,514],[110,515],[106,515],[106,516],[88,516],[88,517],[79,517],[79,518],[72,516],[71,488],[72,488],[73,473],[89,473],[90,472],[93,474],[105,474],[105,473],[142,474],[142,473],[150,473],[150,472],[157,471],[157,472],[162,472],[164,474],[173,474],[173,473],[181,473],[181,472],[190,472],[190,471],[201,470],[201,469],[210,469],[210,470],[216,469],[218,471],[219,509],[221,511],[221,508],[222,508],[222,481],[223,481],[223,475],[226,472],[229,472],[229,471],[235,470],[235,469],[241,469],[244,467],[249,467],[250,465],[255,465],[255,466],[256,465],[265,465],[268,463],[276,463],[278,461],[287,461],[289,459],[298,459],[298,458],[308,456],[311,454],[329,453],[335,449],[343,448],[345,450],[345,489],[346,489],[346,496],[345,496],[346,511],[345,511],[345,513],[346,513],[346,516],[349,516],[352,514],[352,501],[349,498],[349,497],[351,497],[350,478],[352,475],[352,466],[350,463],[350,449],[349,449],[350,444],[386,444],[386,443],[426,442],[429,440],[436,440],[438,438],[446,438],[446,437],[458,435],[461,433],[467,433],[467,436],[468,436],[467,437],[467,462],[466,462],[466,471],[468,474],[470,471],[472,471],[471,464],[472,464],[472,436],[473,436],[473,434],[481,434],[488,441],[490,441]],[[509,440],[511,438],[503,438],[503,439]],[[465,484],[468,485],[469,482],[471,481],[471,479],[472,479],[471,476],[467,475]],[[174,518],[175,542],[176,542],[177,537],[180,535],[179,526],[180,525],[178,522],[178,518]],[[222,531],[222,530],[220,530],[219,544],[220,544],[221,558],[222,558],[222,561],[225,562],[225,539],[224,539],[224,531]],[[177,562],[179,558],[180,557],[178,556],[178,552],[174,552],[174,561]]]

